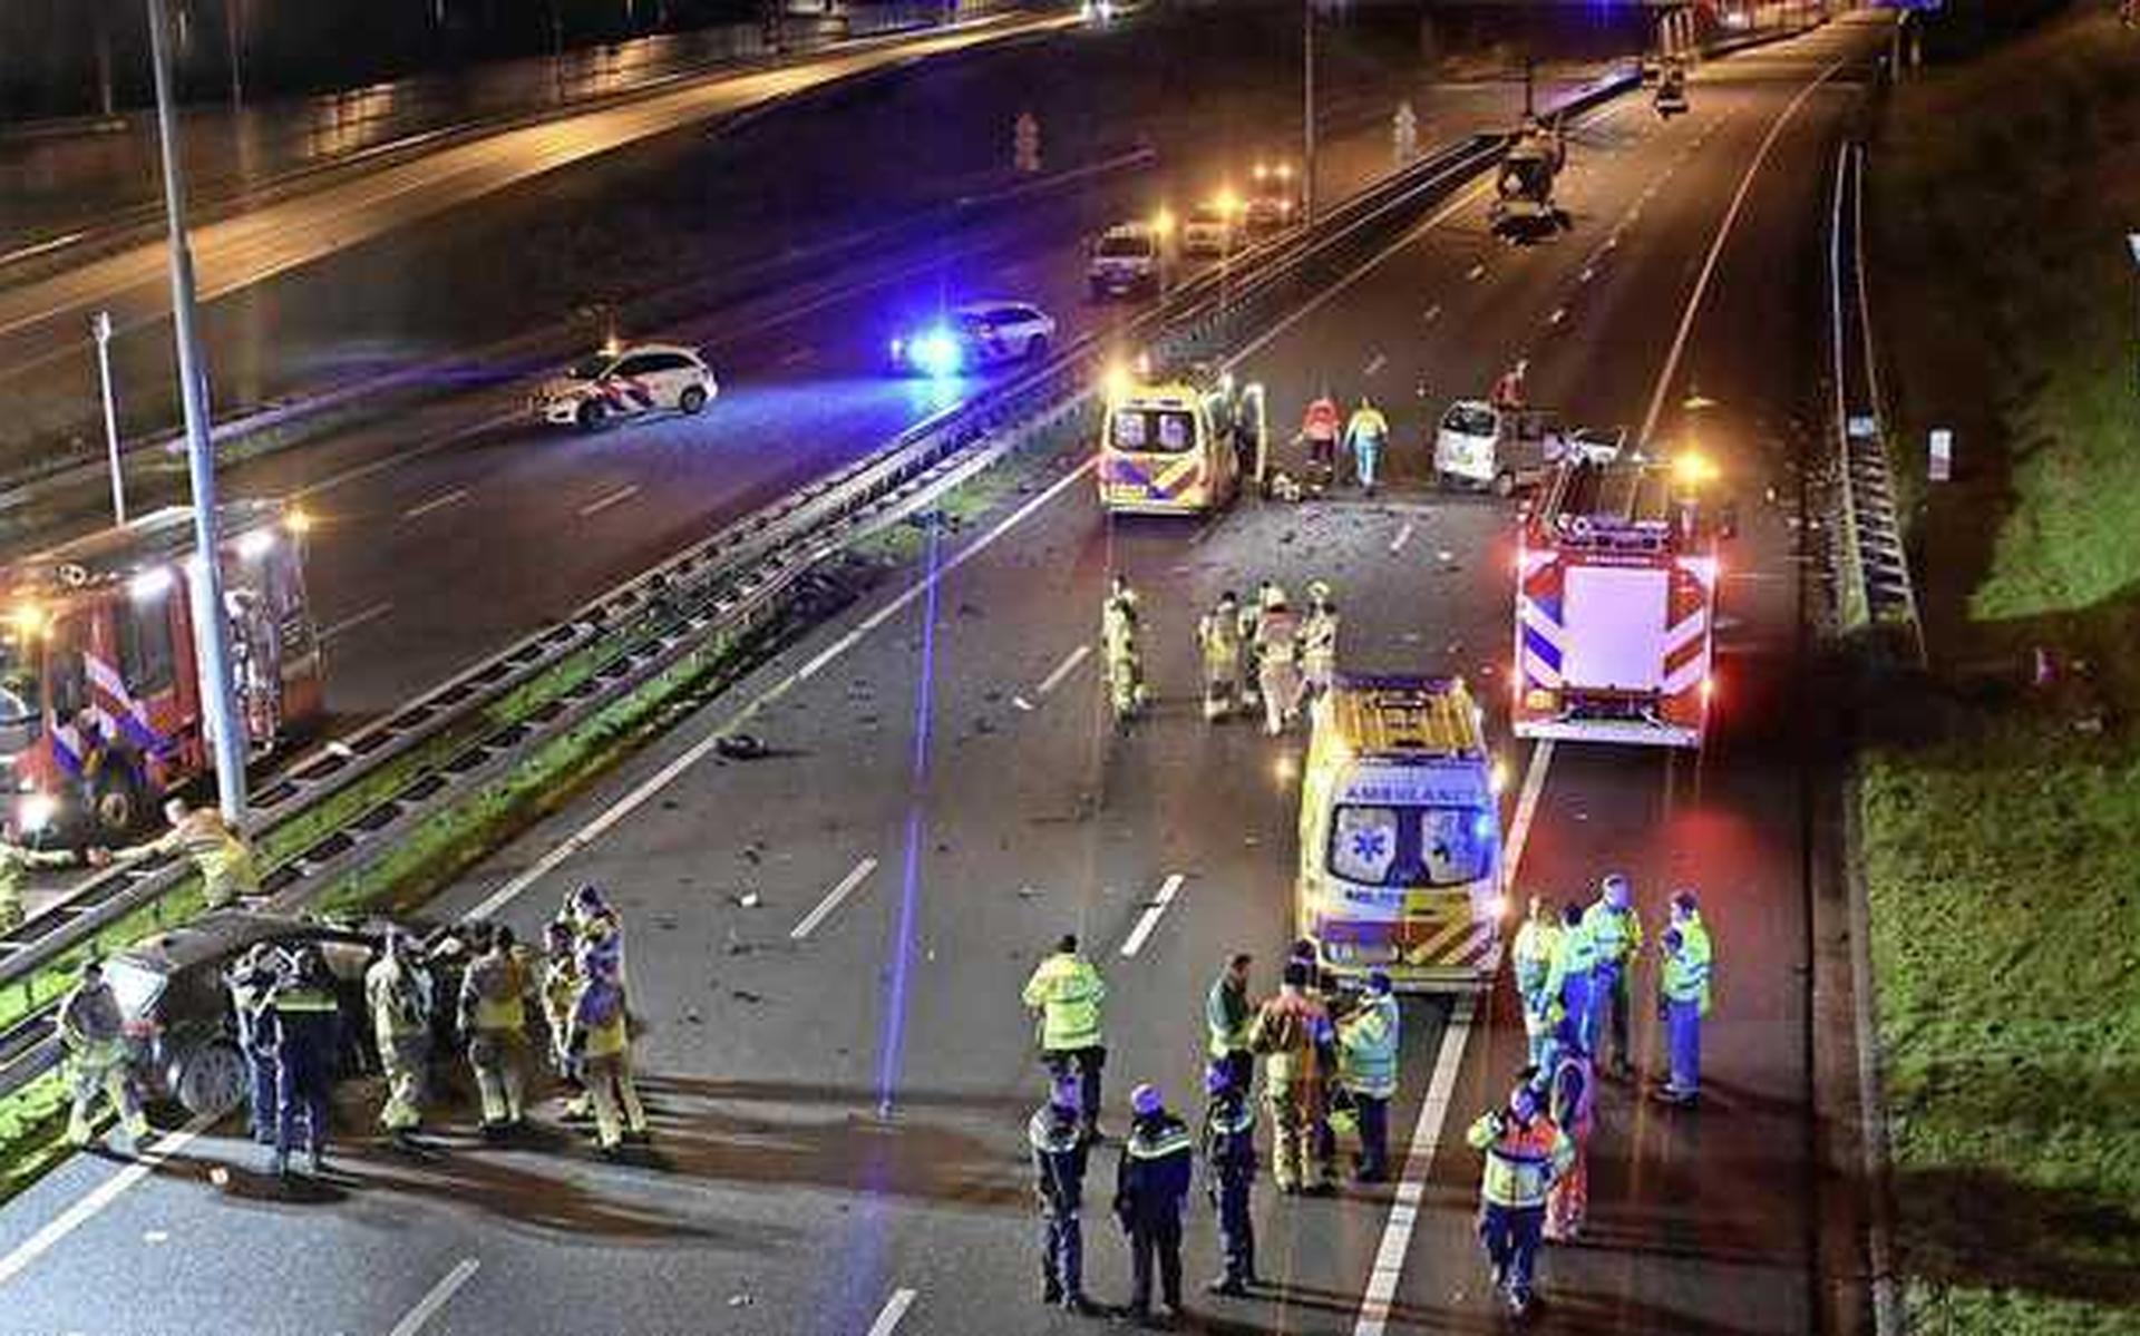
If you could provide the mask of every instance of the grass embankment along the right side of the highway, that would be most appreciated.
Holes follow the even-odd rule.
[[[1898,439],[1960,465],[1902,460],[1943,689],[1862,769],[1905,1300],[2140,1332],[2140,41],[2091,11],[1907,84],[1872,225]]]

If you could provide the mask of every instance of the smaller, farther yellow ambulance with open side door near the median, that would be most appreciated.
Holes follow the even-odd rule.
[[[1153,375],[1117,366],[1100,428],[1100,507],[1111,514],[1211,514],[1263,486],[1265,394],[1230,370]]]

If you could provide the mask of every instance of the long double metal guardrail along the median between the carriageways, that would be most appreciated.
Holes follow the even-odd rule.
[[[1586,111],[1629,86],[1631,77],[1599,81],[1562,109]],[[265,882],[272,904],[304,908],[394,850],[428,818],[511,775],[550,741],[666,672],[696,672],[775,619],[828,557],[899,522],[1031,435],[1091,411],[1100,368],[1130,345],[1194,358],[1265,328],[1275,306],[1357,268],[1425,208],[1496,163],[1504,143],[1500,135],[1457,143],[1340,203],[1312,231],[1243,250],[1228,272],[1198,274],[1126,330],[1087,336],[1049,364],[916,424],[867,458],[625,580],[392,717],[293,764],[259,794],[263,837],[400,758],[426,747],[445,752],[274,867]],[[582,653],[593,659],[584,674],[529,694],[533,683]],[[0,987],[24,985],[39,968],[152,906],[188,876],[190,869],[167,865],[90,878],[64,904],[24,925],[30,940],[4,944]],[[56,1060],[49,1008],[26,1017],[0,1034],[0,1096]]]

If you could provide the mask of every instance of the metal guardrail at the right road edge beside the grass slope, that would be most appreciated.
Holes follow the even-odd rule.
[[[1909,552],[1887,467],[1887,430],[1872,353],[1870,302],[1864,272],[1864,150],[1836,152],[1834,214],[1830,218],[1828,289],[1834,340],[1838,488],[1843,495],[1840,565],[1845,621],[1902,640],[1924,664],[1924,623],[1909,578]]]

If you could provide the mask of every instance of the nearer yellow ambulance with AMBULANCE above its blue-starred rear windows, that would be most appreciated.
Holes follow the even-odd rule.
[[[1489,987],[1507,916],[1500,762],[1462,679],[1342,672],[1301,777],[1297,927],[1325,970]]]

